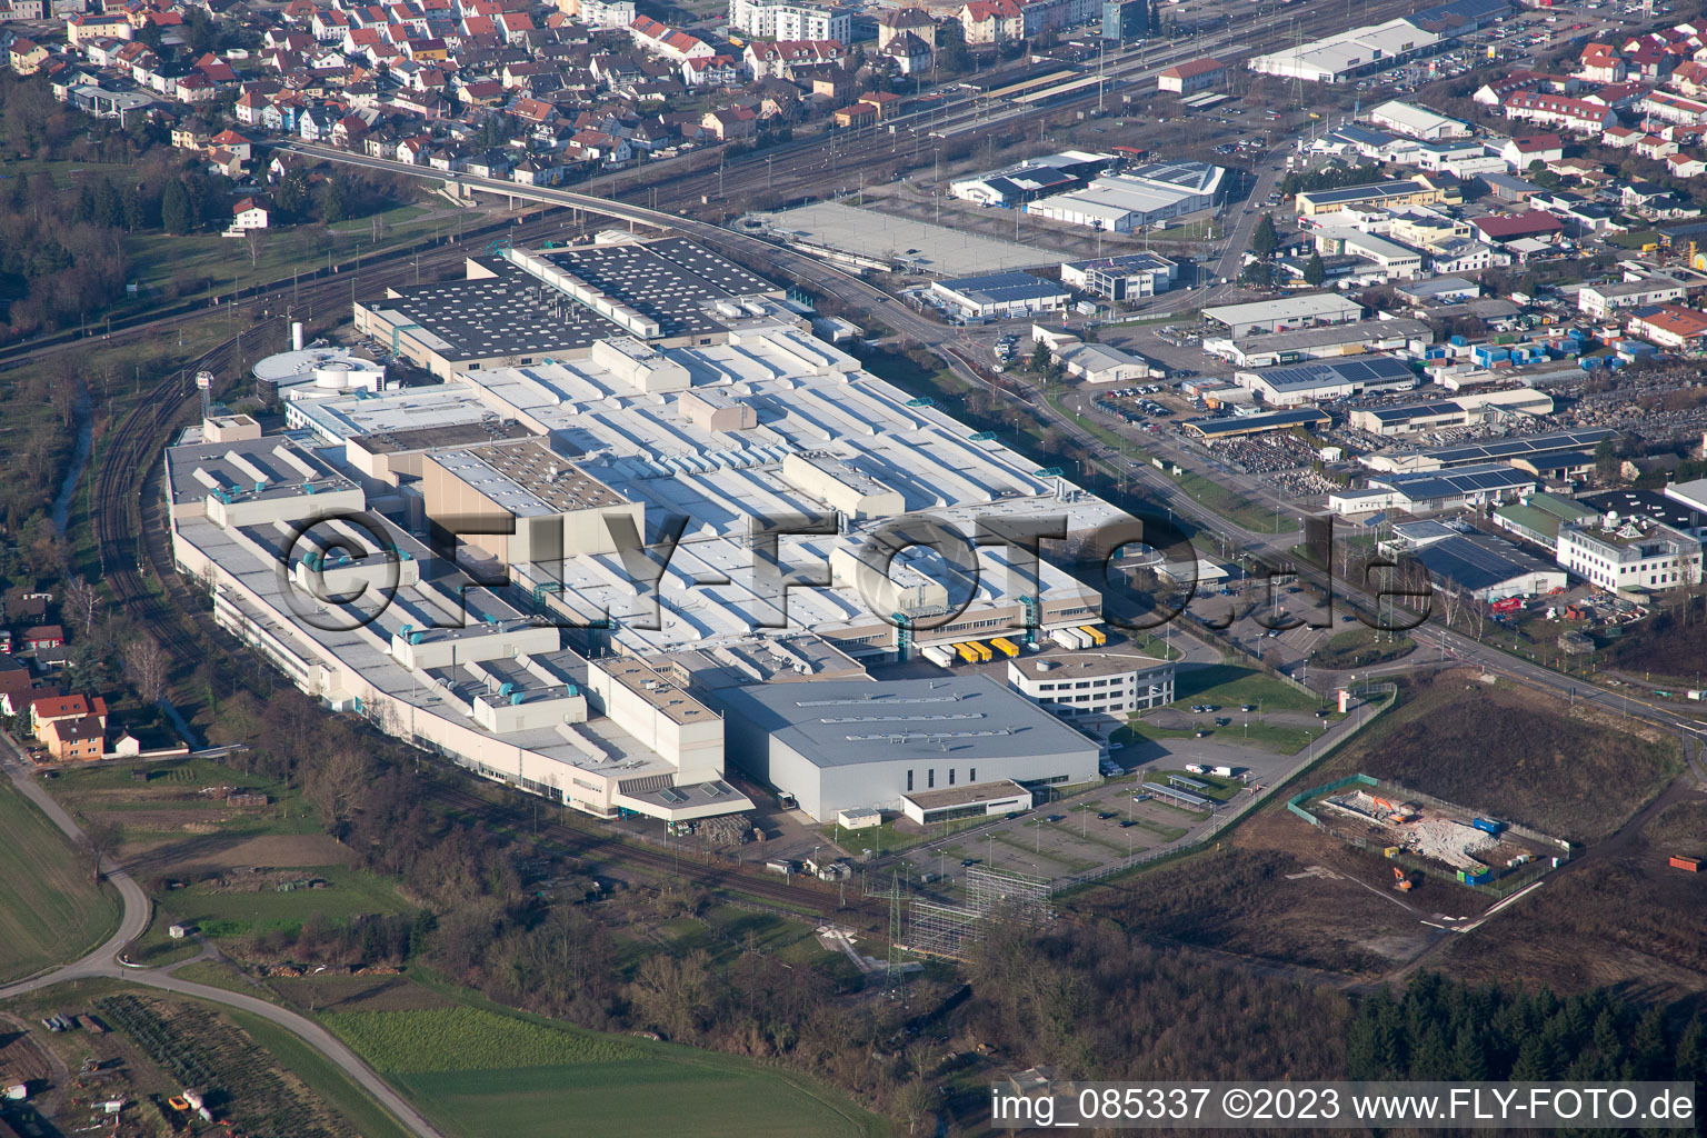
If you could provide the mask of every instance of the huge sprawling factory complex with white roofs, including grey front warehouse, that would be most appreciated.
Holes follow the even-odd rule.
[[[1101,643],[1099,592],[990,532],[1121,515],[696,246],[507,249],[357,321],[442,382],[263,362],[287,428],[210,415],[171,447],[172,543],[222,626],[399,739],[599,817],[748,809],[731,768],[814,817],[990,809],[985,783],[1096,776],[1069,722],[1171,696],[1137,655],[1082,693],[874,679]],[[975,558],[951,584],[915,561],[937,532]]]

